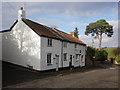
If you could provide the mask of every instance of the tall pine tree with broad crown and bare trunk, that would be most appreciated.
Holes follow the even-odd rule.
[[[99,40],[99,50],[101,49],[102,35],[106,34],[108,37],[113,35],[113,26],[109,25],[106,20],[101,19],[86,26],[85,35],[91,34],[94,38]]]

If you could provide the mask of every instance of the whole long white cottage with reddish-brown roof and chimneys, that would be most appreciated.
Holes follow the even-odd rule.
[[[1,33],[3,61],[38,71],[85,66],[85,43],[73,32],[26,19],[23,8],[11,28]]]

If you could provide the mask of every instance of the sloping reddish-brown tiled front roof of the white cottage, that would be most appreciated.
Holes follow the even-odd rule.
[[[56,39],[60,39],[68,42],[86,45],[84,42],[82,42],[78,38],[73,37],[70,34],[62,32],[60,30],[38,24],[28,19],[23,19],[23,22],[25,22],[32,30],[34,30],[40,36],[46,36],[46,37],[56,38]]]

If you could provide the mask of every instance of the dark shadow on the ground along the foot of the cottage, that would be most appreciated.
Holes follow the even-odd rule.
[[[87,72],[94,69],[104,69],[112,67],[111,64],[109,65],[92,65],[87,67],[78,67],[73,68],[63,68],[60,69],[58,72],[55,70],[48,70],[48,71],[34,71],[30,70],[21,66],[17,66],[14,64],[10,64],[7,62],[2,62],[2,85],[3,87],[23,82],[28,82],[35,79],[46,78],[49,76],[55,75],[66,75],[70,73],[77,73],[77,72]]]

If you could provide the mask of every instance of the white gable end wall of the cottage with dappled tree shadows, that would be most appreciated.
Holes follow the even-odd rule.
[[[3,33],[3,60],[40,70],[40,36],[23,21]]]

